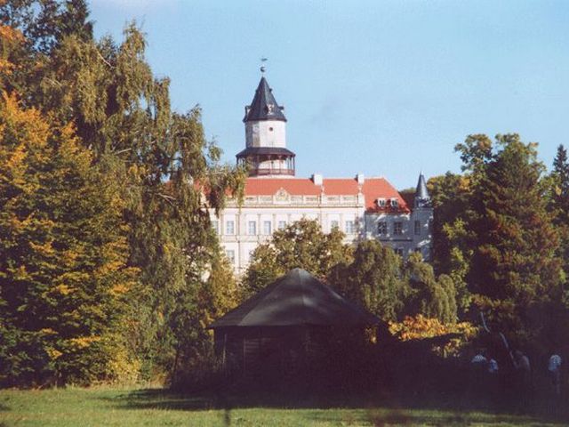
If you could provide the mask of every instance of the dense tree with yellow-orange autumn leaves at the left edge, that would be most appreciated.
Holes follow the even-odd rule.
[[[0,141],[0,375],[89,383],[128,371],[120,330],[137,269],[116,183],[72,126],[6,93]]]

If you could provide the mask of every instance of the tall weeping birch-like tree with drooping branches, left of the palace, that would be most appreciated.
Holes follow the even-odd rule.
[[[180,312],[198,312],[189,302],[217,247],[208,209],[222,208],[228,191],[240,197],[244,171],[220,165],[201,109],[172,112],[169,80],[153,75],[135,24],[121,43],[94,40],[82,0],[12,0],[0,5],[0,20],[23,35],[5,51],[13,64],[6,92],[20,93],[54,126],[74,123],[77,143],[118,186],[128,263],[140,270],[123,338],[146,375],[172,372],[180,347],[174,325]]]

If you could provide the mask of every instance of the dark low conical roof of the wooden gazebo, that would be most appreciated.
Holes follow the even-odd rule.
[[[210,326],[371,326],[381,320],[332,287],[293,269]]]

